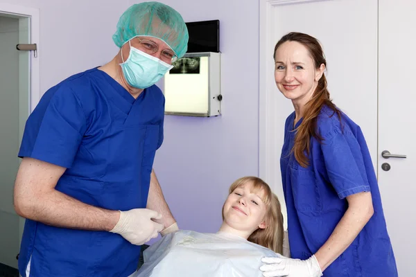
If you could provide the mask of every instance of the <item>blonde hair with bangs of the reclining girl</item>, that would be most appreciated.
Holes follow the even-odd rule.
[[[263,190],[264,199],[262,200],[263,203],[266,204],[267,211],[264,219],[266,228],[257,229],[248,237],[247,240],[249,242],[259,244],[262,247],[271,249],[276,253],[283,254],[283,215],[281,214],[279,199],[274,193],[272,193],[270,186],[258,177],[242,177],[234,181],[234,183],[229,187],[229,194],[232,194],[236,188],[239,188],[248,182],[252,183],[254,192]]]

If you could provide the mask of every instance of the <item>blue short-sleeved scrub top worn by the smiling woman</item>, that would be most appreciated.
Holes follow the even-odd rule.
[[[301,119],[294,128],[294,120],[295,112],[286,119],[280,159],[292,258],[306,259],[316,253],[347,211],[345,197],[370,191],[374,215],[324,276],[397,276],[379,187],[360,127],[345,114],[340,123],[337,114],[322,107],[317,128],[324,141],[311,139],[309,166],[302,168],[291,153],[293,129],[302,123]]]

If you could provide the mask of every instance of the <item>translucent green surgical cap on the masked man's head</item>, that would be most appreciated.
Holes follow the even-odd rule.
[[[126,10],[119,19],[113,41],[123,46],[133,37],[162,39],[182,57],[188,49],[188,29],[179,12],[159,2],[138,3]]]

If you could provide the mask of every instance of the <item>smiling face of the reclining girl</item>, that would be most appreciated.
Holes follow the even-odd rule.
[[[266,195],[262,189],[256,192],[253,189],[252,182],[239,186],[228,195],[223,208],[224,222],[236,231],[247,232],[247,237],[259,228],[266,228],[267,207],[262,200]]]

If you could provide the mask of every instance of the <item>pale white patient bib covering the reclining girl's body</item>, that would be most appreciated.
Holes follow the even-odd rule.
[[[277,254],[227,233],[178,231],[144,251],[135,277],[261,277],[261,258]]]

